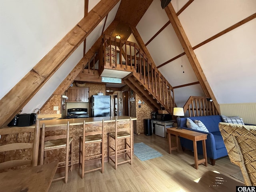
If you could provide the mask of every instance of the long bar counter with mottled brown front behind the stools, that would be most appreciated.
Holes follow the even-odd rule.
[[[79,138],[82,136],[83,130],[83,122],[102,122],[104,119],[104,156],[105,161],[108,158],[108,133],[114,132],[115,130],[115,120],[120,120],[122,122],[122,126],[130,126],[130,117],[129,116],[113,116],[113,117],[94,117],[94,118],[75,118],[75,119],[56,119],[56,120],[40,120],[40,127],[42,128],[43,123],[47,126],[62,126],[66,125],[69,121],[70,125],[70,137],[73,138],[73,162],[74,164],[79,163]],[[132,117],[132,121],[136,120],[137,118]],[[11,128],[11,127],[10,127]],[[133,123],[132,123],[133,128]],[[54,133],[52,133],[54,134]],[[2,136],[0,139],[0,145],[8,143],[10,138],[17,137],[22,140],[27,140],[28,142],[33,142],[34,136],[30,134],[20,134],[19,136]],[[18,142],[18,140],[17,140]],[[92,144],[86,148],[87,154],[96,154],[100,150],[99,144]],[[25,152],[26,153],[26,152]],[[51,152],[47,153],[47,162],[53,161],[63,161],[65,157],[64,150],[52,150]],[[20,152],[12,152],[10,154],[0,154],[0,162],[4,161],[4,158],[12,158],[11,156],[19,156]],[[25,156],[30,156],[30,152],[28,151]],[[8,157],[9,156],[9,157]]]

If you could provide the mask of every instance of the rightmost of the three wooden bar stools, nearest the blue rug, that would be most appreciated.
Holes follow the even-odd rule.
[[[132,154],[133,154],[133,138],[132,138],[132,118],[130,118],[130,126],[129,127],[125,127],[124,124],[127,124],[127,121],[118,121],[116,119],[115,122],[115,132],[112,133],[108,133],[108,162],[110,162],[110,160],[112,160],[112,162],[114,162],[115,164],[115,169],[117,169],[117,166],[119,164],[123,164],[126,162],[130,162],[130,164],[132,165]],[[118,126],[122,127],[122,128],[118,128]],[[110,146],[111,143],[111,139],[114,140],[114,147]],[[119,140],[123,140],[124,139],[124,148],[118,150],[118,141]],[[128,142],[129,139],[129,142]],[[119,142],[120,143],[120,142]],[[128,160],[123,160],[121,162],[118,162],[118,156],[125,154],[125,157],[127,159],[128,156]],[[114,157],[114,159],[112,158]]]

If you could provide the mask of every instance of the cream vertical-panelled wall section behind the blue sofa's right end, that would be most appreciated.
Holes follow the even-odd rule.
[[[220,112],[226,116],[239,116],[244,123],[256,124],[256,103],[220,104]]]

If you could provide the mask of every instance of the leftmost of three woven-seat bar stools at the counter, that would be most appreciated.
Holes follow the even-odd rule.
[[[54,132],[54,135],[45,136],[46,132]],[[56,131],[60,131],[59,135],[55,135]],[[65,161],[59,162],[58,168],[65,167],[65,176],[54,178],[52,181],[65,178],[65,183],[68,182],[68,171],[72,171],[73,167],[73,138],[69,137],[69,122],[66,126],[42,126],[41,135],[41,152],[40,152],[40,165],[46,163],[47,151],[66,148]],[[68,168],[70,168],[68,170]]]

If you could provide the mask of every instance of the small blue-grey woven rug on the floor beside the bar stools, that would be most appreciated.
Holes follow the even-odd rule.
[[[161,157],[162,154],[144,143],[134,143],[134,155],[141,161],[146,161],[156,157]]]

